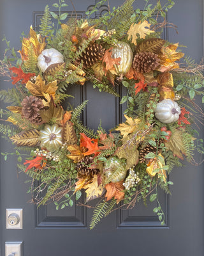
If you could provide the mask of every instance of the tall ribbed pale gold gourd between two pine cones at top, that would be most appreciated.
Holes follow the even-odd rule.
[[[128,73],[133,63],[133,51],[129,44],[119,42],[116,47],[112,49],[112,58],[120,58],[120,65],[114,65],[116,74],[122,77]]]

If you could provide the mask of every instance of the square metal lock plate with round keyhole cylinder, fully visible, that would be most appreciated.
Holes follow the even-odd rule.
[[[6,209],[6,228],[7,229],[22,229],[22,209]]]

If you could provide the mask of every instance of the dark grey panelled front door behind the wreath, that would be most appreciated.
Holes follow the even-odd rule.
[[[69,1],[68,1],[69,2]],[[84,17],[85,11],[94,0],[75,0],[78,17]],[[96,2],[98,2],[96,0]],[[122,4],[122,0],[109,0],[111,6]],[[136,1],[135,8],[143,6],[142,0]],[[156,3],[156,1],[152,1]],[[184,52],[200,61],[203,56],[203,1],[177,0],[168,12],[169,22],[179,28],[167,28],[164,38],[170,42],[187,45]],[[45,5],[52,6],[54,0],[1,0],[0,36],[6,35],[11,46],[20,49],[19,37],[22,31],[29,33],[29,26],[38,27]],[[68,9],[73,10],[71,3]],[[103,13],[106,6],[99,12]],[[4,42],[1,42],[1,58]],[[1,89],[11,83],[1,81]],[[92,90],[91,84],[75,86],[71,89],[76,97],[72,102],[76,106],[89,99],[84,122],[96,129],[102,120],[102,126],[110,129],[119,124],[122,118],[119,100],[112,95]],[[104,111],[112,109],[112,111]],[[105,115],[104,113],[108,113]],[[1,152],[12,152],[12,146],[1,140]],[[161,226],[152,209],[156,203],[145,207],[142,203],[129,211],[112,212],[102,220],[94,230],[89,230],[92,209],[73,205],[71,208],[55,210],[55,206],[36,209],[29,203],[31,195],[26,191],[26,175],[18,173],[17,159],[10,156],[8,161],[1,157],[1,255],[4,255],[5,241],[23,241],[25,256],[55,255],[138,255],[138,256],[203,256],[203,166],[189,166],[173,170],[170,180],[172,195],[161,191],[160,201],[166,216],[166,224]],[[23,228],[6,229],[6,209],[23,209]]]

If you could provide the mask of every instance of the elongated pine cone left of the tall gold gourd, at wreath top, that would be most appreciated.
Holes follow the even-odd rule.
[[[85,52],[82,52],[82,56],[78,58],[77,63],[83,61],[84,68],[92,67],[98,60],[101,60],[105,54],[105,49],[100,44],[89,44]]]

